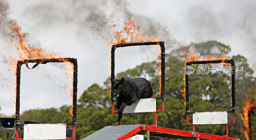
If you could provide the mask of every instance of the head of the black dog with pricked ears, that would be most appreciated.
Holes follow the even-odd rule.
[[[121,80],[111,79],[111,84],[112,84],[113,96],[118,97],[124,90],[124,77],[122,77]]]

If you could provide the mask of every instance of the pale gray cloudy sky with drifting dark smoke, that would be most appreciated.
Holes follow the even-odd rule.
[[[255,1],[148,1],[148,0],[0,0],[0,114],[14,114],[13,95],[6,84],[10,55],[16,51],[8,36],[10,19],[16,19],[30,44],[47,52],[78,59],[78,97],[93,83],[103,85],[110,75],[108,46],[113,30],[136,17],[147,35],[162,36],[167,52],[179,44],[218,40],[230,45],[229,55],[242,54],[256,70]],[[115,24],[115,28],[113,27]],[[157,58],[156,47],[122,48],[116,51],[116,73]],[[69,80],[60,64],[21,68],[20,110],[71,104],[64,91]]]

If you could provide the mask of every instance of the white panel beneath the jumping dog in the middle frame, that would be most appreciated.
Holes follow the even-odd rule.
[[[123,113],[156,112],[156,98],[144,98],[124,108]]]

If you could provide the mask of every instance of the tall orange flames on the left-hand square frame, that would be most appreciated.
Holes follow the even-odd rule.
[[[16,56],[10,56],[10,65],[11,69],[9,71],[12,73],[12,77],[14,78],[14,82],[9,82],[10,84],[7,84],[6,87],[10,88],[10,85],[12,85],[14,88],[16,88],[16,67],[17,67],[17,61],[18,60],[30,60],[30,59],[50,59],[50,58],[60,58],[56,53],[46,53],[44,49],[42,49],[40,46],[36,47],[34,45],[30,45],[28,41],[25,39],[26,35],[28,33],[21,33],[21,28],[19,25],[16,23],[15,20],[11,20],[11,32],[16,33],[16,37],[18,41],[14,41],[16,39],[12,39],[12,43],[14,44],[16,50],[17,50],[17,55]],[[62,57],[67,57],[67,56],[62,56]],[[61,59],[61,58],[60,58]],[[68,62],[68,61],[67,61]],[[64,63],[65,67],[65,75],[73,81],[73,64],[68,62]],[[72,84],[72,82],[71,82]],[[68,94],[72,97],[73,93],[73,85],[70,87],[66,87],[65,90],[68,91]],[[16,89],[15,90],[10,90],[9,91],[14,95],[13,96],[13,103],[16,103]],[[72,98],[71,98],[72,100]],[[73,105],[72,105],[73,107]],[[72,115],[72,114],[71,114]]]

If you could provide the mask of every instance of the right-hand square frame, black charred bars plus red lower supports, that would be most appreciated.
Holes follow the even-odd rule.
[[[233,122],[228,122],[226,124],[226,136],[228,137],[228,124],[235,124],[235,63],[234,60],[207,60],[207,61],[190,61],[186,62],[186,66],[195,64],[218,64],[218,63],[230,63],[231,64],[231,111],[228,113],[233,113]],[[194,112],[189,112],[189,89],[188,89],[188,75],[185,75],[185,89],[186,89],[186,120],[187,125],[193,125],[193,132],[195,132],[195,124],[188,123],[188,114],[193,114]]]

